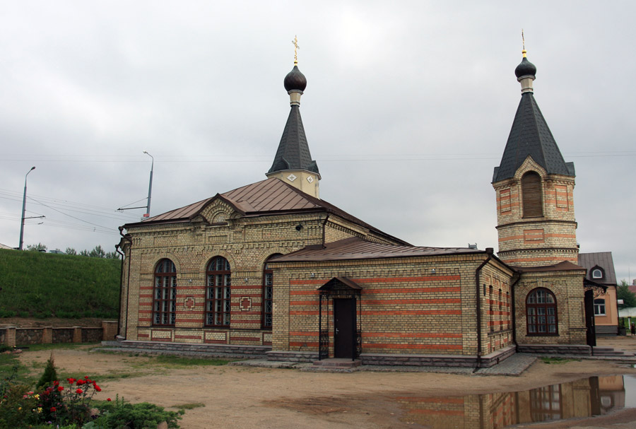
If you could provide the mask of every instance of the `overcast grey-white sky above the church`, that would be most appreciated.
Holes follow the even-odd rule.
[[[322,199],[414,245],[497,249],[521,96],[577,171],[581,252],[636,276],[634,1],[0,1],[0,243],[113,250],[138,221],[265,178],[307,77]],[[630,281],[631,282],[631,281]]]

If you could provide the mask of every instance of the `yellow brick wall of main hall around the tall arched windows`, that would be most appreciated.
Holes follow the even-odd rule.
[[[272,254],[321,243],[325,215],[232,216],[230,208],[214,204],[203,211],[200,221],[142,225],[127,231],[132,244],[124,245],[122,308],[128,310],[123,320],[126,339],[249,345],[271,342],[271,329],[261,329],[264,262]],[[215,223],[208,225],[205,218]],[[303,228],[297,230],[299,224]],[[230,263],[230,329],[204,327],[206,267],[215,256]],[[172,260],[177,267],[175,327],[152,323],[154,270],[163,258]]]

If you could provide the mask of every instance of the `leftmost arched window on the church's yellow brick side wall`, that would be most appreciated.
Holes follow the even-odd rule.
[[[153,324],[175,326],[177,311],[177,269],[170,259],[161,259],[155,267]]]

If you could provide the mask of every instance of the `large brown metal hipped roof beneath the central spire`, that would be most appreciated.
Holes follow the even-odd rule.
[[[361,221],[355,216],[352,216],[327,201],[305,194],[305,192],[300,191],[300,189],[296,189],[276,177],[270,177],[269,179],[261,180],[261,182],[232,189],[231,191],[223,194],[216,194],[211,198],[197,201],[196,203],[176,208],[172,211],[167,211],[166,213],[162,213],[158,216],[148,218],[145,221],[127,223],[124,225],[124,228],[160,223],[189,222],[196,218],[196,216],[199,216],[199,213],[201,213],[208,204],[211,204],[217,199],[225,201],[225,203],[232,206],[232,208],[245,217],[270,216],[283,213],[333,213],[340,218],[355,223],[356,225],[372,230],[374,233],[384,235],[391,240],[396,240],[397,242],[401,242],[404,245],[409,246],[407,242],[382,232],[381,230]]]

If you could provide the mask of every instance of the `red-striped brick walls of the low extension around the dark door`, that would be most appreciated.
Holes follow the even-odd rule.
[[[271,264],[274,270],[273,350],[317,351],[319,293],[331,278],[347,276],[362,286],[362,353],[476,355],[476,269],[484,253],[440,257],[391,258]],[[512,271],[491,261],[484,281],[496,281],[505,292]],[[488,277],[488,278],[485,278]],[[497,289],[498,290],[498,289]],[[509,292],[509,291],[508,291]],[[508,293],[507,296],[510,296]],[[489,317],[496,323],[493,347],[512,341],[510,302],[497,303],[489,316],[481,293],[482,354],[491,350]],[[329,320],[333,355],[333,305],[323,309]],[[496,338],[495,338],[496,337]]]

